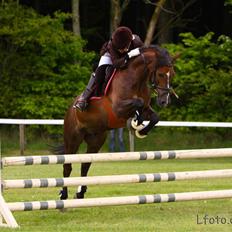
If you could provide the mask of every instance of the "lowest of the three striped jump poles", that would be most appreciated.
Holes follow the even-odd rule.
[[[185,192],[125,197],[104,197],[75,200],[12,202],[7,203],[7,205],[11,211],[31,211],[47,209],[85,208],[95,206],[152,204],[163,202],[195,201],[223,198],[232,198],[232,189],[204,192]]]

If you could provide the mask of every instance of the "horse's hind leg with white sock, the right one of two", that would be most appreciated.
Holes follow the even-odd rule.
[[[98,153],[106,140],[107,132],[101,132],[101,134],[88,134],[84,140],[87,143],[87,153]],[[87,176],[91,163],[81,164],[81,177]],[[84,198],[84,194],[87,191],[87,186],[79,186],[76,192],[75,198]]]

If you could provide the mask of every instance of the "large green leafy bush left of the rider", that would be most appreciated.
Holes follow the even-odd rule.
[[[0,6],[0,117],[63,118],[91,72],[94,53],[64,29],[68,14]]]

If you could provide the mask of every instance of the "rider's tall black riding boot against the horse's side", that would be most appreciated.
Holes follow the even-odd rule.
[[[81,96],[77,99],[77,101],[74,103],[73,108],[79,109],[80,111],[84,111],[88,105],[88,100],[91,94],[93,93],[94,87],[95,87],[95,73],[92,73],[86,89],[81,94]]]

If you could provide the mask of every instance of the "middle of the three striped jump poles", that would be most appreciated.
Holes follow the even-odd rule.
[[[232,177],[232,169],[133,174],[133,175],[92,176],[92,177],[3,180],[3,188],[10,189],[10,188],[44,188],[44,187],[78,186],[78,185],[108,185],[108,184],[178,181],[178,180],[210,179],[210,178],[226,178],[226,177]]]

